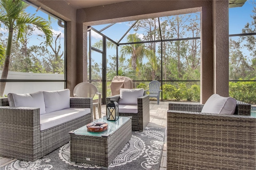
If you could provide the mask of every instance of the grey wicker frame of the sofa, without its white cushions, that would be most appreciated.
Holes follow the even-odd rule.
[[[39,108],[9,107],[7,97],[0,98],[1,156],[35,161],[69,142],[68,132],[92,122],[92,98],[70,97],[70,107],[86,107],[91,111],[88,115],[40,131]]]

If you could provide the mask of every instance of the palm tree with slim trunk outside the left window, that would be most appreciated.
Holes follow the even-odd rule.
[[[7,79],[12,48],[12,36],[14,31],[18,31],[18,39],[22,40],[27,24],[37,26],[46,36],[46,44],[52,43],[52,28],[47,20],[25,12],[28,4],[21,0],[1,0],[0,1],[0,21],[8,29],[8,42],[4,59],[4,67],[1,79]],[[3,96],[6,82],[0,83],[0,96]]]

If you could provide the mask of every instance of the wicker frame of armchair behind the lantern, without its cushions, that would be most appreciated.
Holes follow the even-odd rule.
[[[106,97],[106,103],[110,100],[119,101],[120,95],[114,95]],[[131,116],[132,117],[132,130],[143,131],[148,125],[150,114],[149,114],[149,95],[144,95],[138,98],[138,113],[120,113],[119,116]]]

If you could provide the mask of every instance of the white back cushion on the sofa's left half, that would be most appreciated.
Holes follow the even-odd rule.
[[[10,107],[36,107],[40,108],[40,114],[45,113],[44,95],[42,91],[26,94],[9,93],[8,101]]]

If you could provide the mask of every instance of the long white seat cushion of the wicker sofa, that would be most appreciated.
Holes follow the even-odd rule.
[[[62,123],[66,123],[78,117],[87,115],[91,112],[90,108],[75,108],[70,107],[51,113],[40,115],[40,130],[45,130],[55,127]]]

